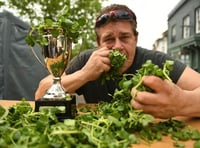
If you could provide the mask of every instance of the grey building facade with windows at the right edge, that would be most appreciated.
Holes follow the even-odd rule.
[[[168,15],[168,54],[200,72],[200,0],[180,0]]]

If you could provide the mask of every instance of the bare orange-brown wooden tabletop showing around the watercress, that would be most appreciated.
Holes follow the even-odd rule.
[[[8,100],[0,100],[0,105],[8,108],[9,106],[15,105],[19,101],[8,101]],[[29,101],[31,106],[35,106],[34,101]],[[177,120],[185,122],[187,125],[194,127],[200,131],[200,118],[187,118],[187,117],[176,117]],[[158,119],[160,120],[160,119]],[[186,141],[183,142],[185,144],[185,148],[193,148],[193,141]],[[173,148],[173,141],[171,137],[163,137],[162,141],[153,142],[150,145],[141,143],[141,144],[134,144],[133,148]]]

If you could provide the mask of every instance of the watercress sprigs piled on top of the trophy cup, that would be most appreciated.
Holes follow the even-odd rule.
[[[45,35],[51,34],[53,37],[58,37],[62,34],[68,41],[77,42],[80,35],[80,27],[85,23],[85,20],[72,21],[60,16],[58,20],[46,19],[44,22],[36,26],[32,26],[29,34],[26,37],[26,42],[30,46],[36,43],[40,46],[48,44]]]

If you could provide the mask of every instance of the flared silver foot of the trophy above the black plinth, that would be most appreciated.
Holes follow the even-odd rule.
[[[62,99],[66,99],[66,98],[67,98],[67,94],[65,93],[65,91],[61,85],[61,78],[54,77],[53,85],[47,90],[43,99],[45,99],[45,100],[62,100]]]

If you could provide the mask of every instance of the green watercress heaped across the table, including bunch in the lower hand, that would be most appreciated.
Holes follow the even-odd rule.
[[[163,65],[159,68],[147,61],[135,75],[123,75],[111,102],[99,102],[92,109],[82,107],[74,119],[63,122],[57,120],[55,110],[34,112],[25,100],[8,109],[0,107],[0,147],[127,148],[134,143],[161,141],[170,135],[175,147],[184,147],[182,141],[195,140],[194,148],[198,148],[198,130],[174,119],[154,122],[153,116],[131,107],[132,87],[152,91],[142,85],[143,75],[169,77],[173,62]]]

